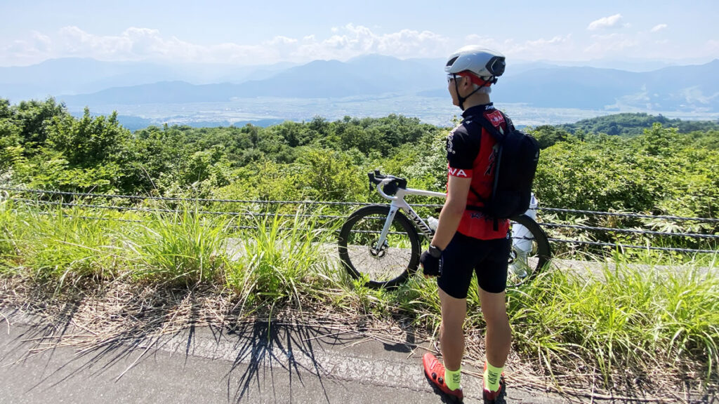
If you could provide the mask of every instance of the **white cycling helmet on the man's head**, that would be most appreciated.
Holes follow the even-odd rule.
[[[469,71],[484,81],[496,83],[504,73],[505,58],[500,52],[478,46],[465,46],[449,55],[444,66],[446,73]]]

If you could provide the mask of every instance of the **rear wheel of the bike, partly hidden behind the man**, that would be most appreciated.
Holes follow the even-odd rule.
[[[507,268],[507,287],[516,288],[529,282],[544,270],[551,258],[546,233],[536,221],[526,215],[513,218],[512,249]],[[516,224],[523,226],[516,227]]]

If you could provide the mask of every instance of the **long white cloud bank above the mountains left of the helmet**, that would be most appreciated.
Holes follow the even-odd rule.
[[[0,49],[0,60],[33,60],[68,56],[99,60],[164,60],[198,63],[307,62],[315,59],[346,60],[366,53],[398,58],[436,57],[446,52],[446,37],[429,31],[402,29],[377,34],[372,29],[347,24],[334,27],[326,37],[273,37],[257,45],[221,43],[199,45],[167,37],[157,29],[130,27],[119,35],[94,35],[79,27],[64,27],[55,35],[35,32]]]

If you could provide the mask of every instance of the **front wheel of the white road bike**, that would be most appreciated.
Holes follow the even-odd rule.
[[[388,205],[359,208],[339,231],[339,259],[344,270],[354,279],[366,279],[370,288],[396,288],[419,265],[419,235],[399,211],[385,242],[378,245],[389,213]]]

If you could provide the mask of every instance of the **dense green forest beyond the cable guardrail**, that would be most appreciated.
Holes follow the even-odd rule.
[[[527,128],[542,206],[714,218],[719,125],[618,114]],[[366,173],[443,190],[448,128],[390,115],[271,127],[147,127],[0,98],[0,185],[73,192],[367,201]],[[623,135],[623,136],[617,136]]]

